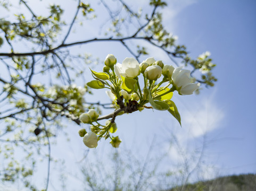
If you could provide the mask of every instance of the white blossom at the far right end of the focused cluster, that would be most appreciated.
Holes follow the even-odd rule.
[[[200,83],[191,83],[190,71],[182,70],[182,68],[183,66],[175,68],[171,79],[179,94],[191,95],[197,88],[199,88]]]

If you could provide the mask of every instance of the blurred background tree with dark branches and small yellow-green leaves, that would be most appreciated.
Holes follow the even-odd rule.
[[[127,57],[142,62],[145,55],[154,56],[147,50],[154,46],[168,55],[172,65],[189,67],[195,81],[205,86],[217,81],[209,53],[189,57],[186,47],[176,44],[177,37],[164,28],[161,8],[167,2],[150,0],[138,10],[122,0],[69,3],[75,4],[75,10],[46,1],[0,2],[0,178],[22,179],[31,190],[37,189],[30,177],[39,157],[47,161],[47,190],[51,144],[67,119],[79,125],[83,112],[90,108],[100,112],[111,104],[86,101],[93,93],[85,85],[86,71],[94,64],[103,65],[97,57],[106,55],[92,56],[77,48],[95,44],[111,54],[109,44],[114,43],[126,49]],[[65,12],[73,15],[63,18]],[[103,13],[105,21],[98,19]],[[100,27],[95,29],[93,23]],[[74,31],[79,25],[86,25],[82,33]]]

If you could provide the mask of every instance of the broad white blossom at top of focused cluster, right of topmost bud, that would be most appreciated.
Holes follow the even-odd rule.
[[[114,65],[114,71],[120,78],[121,75],[124,77],[135,78],[139,75],[139,63],[134,58],[125,58],[122,64],[117,63]]]

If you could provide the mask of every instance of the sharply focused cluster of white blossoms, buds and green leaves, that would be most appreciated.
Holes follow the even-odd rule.
[[[85,129],[79,131],[79,135],[84,137],[85,145],[90,148],[96,147],[102,137],[110,137],[112,146],[119,147],[120,138],[110,136],[110,133],[117,131],[115,117],[124,113],[141,111],[144,108],[168,110],[181,124],[178,109],[171,100],[172,94],[177,91],[180,95],[190,95],[200,86],[200,83],[193,82],[189,70],[184,70],[182,66],[175,68],[172,65],[164,65],[161,60],[155,60],[153,57],[143,60],[142,63],[138,63],[134,58],[125,58],[120,64],[114,55],[108,55],[104,63],[103,72],[91,70],[95,80],[87,85],[94,89],[110,89],[107,94],[114,100],[116,110],[103,117],[99,117],[93,109],[80,115],[82,123],[92,125],[89,133]],[[143,77],[143,89],[138,81],[140,75]],[[156,83],[158,80],[159,83]],[[146,106],[147,103],[151,106]],[[107,120],[105,125],[98,123],[101,119],[109,118],[112,119]]]

